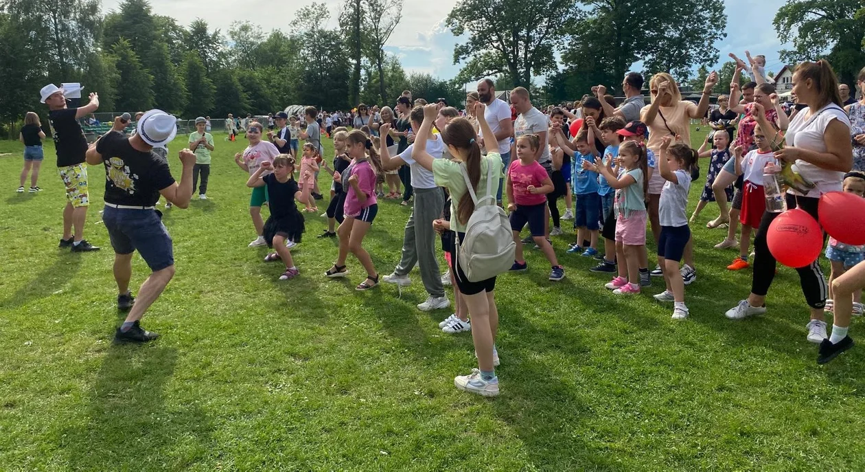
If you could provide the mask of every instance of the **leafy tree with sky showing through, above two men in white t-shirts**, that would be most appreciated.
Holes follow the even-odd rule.
[[[445,24],[454,36],[469,35],[453,51],[468,59],[459,79],[505,74],[529,86],[532,74],[555,70],[554,51],[575,17],[573,0],[459,0]]]

